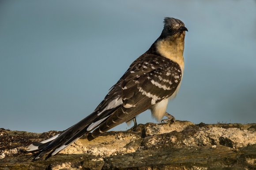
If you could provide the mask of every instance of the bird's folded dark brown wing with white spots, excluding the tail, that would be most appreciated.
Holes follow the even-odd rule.
[[[181,74],[176,62],[159,55],[136,60],[119,82],[122,104],[92,132],[92,137],[98,137],[171,97],[181,81]]]

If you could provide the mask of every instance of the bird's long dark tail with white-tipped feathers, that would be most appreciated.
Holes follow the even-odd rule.
[[[96,127],[102,124],[105,119],[111,116],[116,109],[117,108],[106,110],[105,112],[102,112],[101,115],[97,115],[97,112],[93,112],[72,127],[69,127],[61,134],[57,134],[56,136],[53,136],[45,141],[41,141],[40,143],[31,144],[28,146],[27,151],[38,151],[34,155],[33,160],[39,159],[50,152],[45,158],[48,159],[49,157],[56,155],[64,148],[67,148],[83,135],[89,134],[90,131],[94,130]]]

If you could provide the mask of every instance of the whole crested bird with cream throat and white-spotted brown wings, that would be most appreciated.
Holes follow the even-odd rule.
[[[35,152],[33,160],[46,154],[45,159],[48,159],[84,135],[92,140],[132,120],[136,126],[136,116],[148,109],[157,120],[167,116],[169,119],[164,120],[175,121],[166,107],[181,86],[185,31],[188,29],[181,20],[164,18],[160,36],[132,62],[94,112],[62,133],[28,146],[28,152]]]

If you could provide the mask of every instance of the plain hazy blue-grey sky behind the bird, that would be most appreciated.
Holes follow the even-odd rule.
[[[164,17],[188,28],[184,77],[167,112],[256,123],[256,0],[0,0],[0,127],[64,130],[89,115]],[[156,123],[149,111],[137,122]]]

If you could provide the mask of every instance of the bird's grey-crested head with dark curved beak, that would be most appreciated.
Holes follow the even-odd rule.
[[[185,31],[188,29],[185,27],[184,23],[176,18],[166,17],[164,19],[164,29],[160,36],[161,39],[183,39],[185,36]]]

